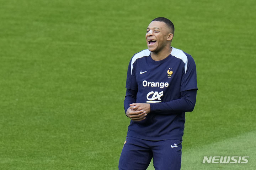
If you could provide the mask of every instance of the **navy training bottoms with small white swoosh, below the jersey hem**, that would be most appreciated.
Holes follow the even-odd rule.
[[[148,141],[128,136],[119,159],[119,170],[146,170],[153,158],[155,170],[180,170],[180,140]]]

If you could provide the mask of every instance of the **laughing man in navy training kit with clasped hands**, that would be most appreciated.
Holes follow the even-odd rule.
[[[185,112],[196,103],[196,65],[191,55],[171,47],[173,23],[155,18],[148,26],[148,49],[130,60],[124,109],[131,119],[119,170],[181,168]]]

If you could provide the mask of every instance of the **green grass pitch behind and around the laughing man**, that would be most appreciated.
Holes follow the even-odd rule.
[[[0,170],[117,170],[128,63],[160,16],[174,22],[172,46],[197,65],[181,169],[256,167],[255,0],[0,4]],[[204,156],[250,158],[202,164]]]

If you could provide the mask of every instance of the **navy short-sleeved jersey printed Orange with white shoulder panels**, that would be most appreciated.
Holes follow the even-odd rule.
[[[191,55],[174,47],[160,61],[153,60],[148,49],[136,53],[129,63],[126,88],[137,91],[136,103],[150,103],[151,109],[146,119],[130,121],[127,136],[182,140],[185,112],[159,108],[181,98],[183,91],[197,89],[196,64]]]

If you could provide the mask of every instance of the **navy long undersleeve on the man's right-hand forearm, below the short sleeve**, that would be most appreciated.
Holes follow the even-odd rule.
[[[196,104],[197,90],[181,92],[181,98],[170,102],[150,103],[150,111],[159,113],[192,112]]]

